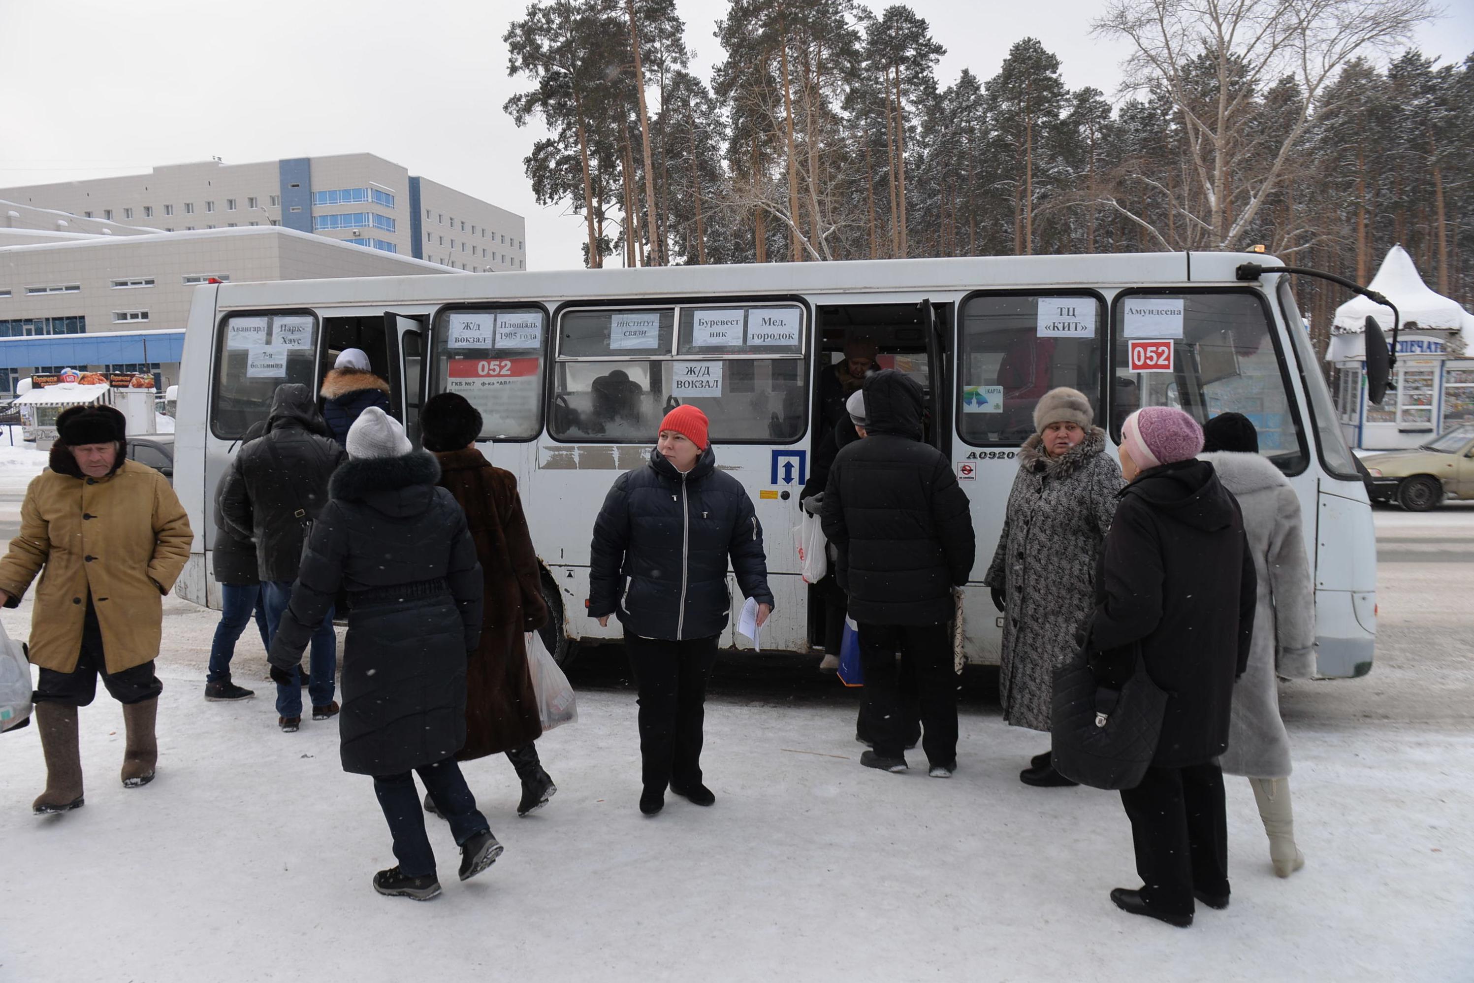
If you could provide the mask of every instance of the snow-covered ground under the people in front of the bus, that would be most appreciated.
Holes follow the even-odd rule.
[[[16,637],[29,604],[4,612]],[[466,766],[507,852],[445,895],[377,896],[394,864],[335,724],[280,734],[248,637],[245,703],[205,703],[215,615],[170,598],[162,758],[118,783],[122,716],[83,712],[87,806],[37,818],[34,728],[0,737],[3,980],[1458,980],[1474,967],[1474,732],[1294,725],[1309,864],[1269,868],[1229,780],[1232,906],[1187,931],[1116,911],[1135,887],[1114,794],[1017,781],[1041,737],[964,712],[951,781],[859,766],[845,706],[715,699],[710,809],[640,815],[635,703],[584,693],[539,741],[559,794],[519,819],[503,758]],[[1303,687],[1366,682],[1297,684]],[[1322,694],[1334,696],[1328,690]],[[920,752],[911,753],[921,765]]]

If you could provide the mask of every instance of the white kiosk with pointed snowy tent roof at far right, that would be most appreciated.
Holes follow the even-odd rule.
[[[1464,358],[1474,314],[1434,293],[1412,256],[1393,246],[1368,284],[1402,314],[1397,365],[1383,405],[1366,401],[1366,317],[1391,337],[1391,309],[1358,296],[1335,309],[1325,360],[1337,370],[1332,392],[1352,447],[1391,451],[1427,444],[1436,433],[1474,423],[1474,360]]]

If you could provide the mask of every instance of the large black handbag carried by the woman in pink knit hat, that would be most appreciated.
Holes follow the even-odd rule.
[[[1135,668],[1120,690],[1100,684],[1082,646],[1054,669],[1051,735],[1054,769],[1092,788],[1135,788],[1162,737],[1167,693],[1147,675],[1141,646]]]

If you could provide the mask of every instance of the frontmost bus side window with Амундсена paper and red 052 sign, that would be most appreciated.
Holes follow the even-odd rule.
[[[1248,290],[1132,292],[1116,298],[1111,438],[1139,407],[1178,407],[1206,423],[1243,413],[1259,452],[1287,475],[1310,461],[1263,299]]]

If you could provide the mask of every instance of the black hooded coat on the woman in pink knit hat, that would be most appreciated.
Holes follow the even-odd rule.
[[[1234,678],[1254,634],[1254,559],[1238,503],[1207,461],[1153,467],[1119,492],[1095,576],[1089,647],[1119,687],[1135,647],[1167,691],[1153,765],[1206,763],[1228,747]]]

